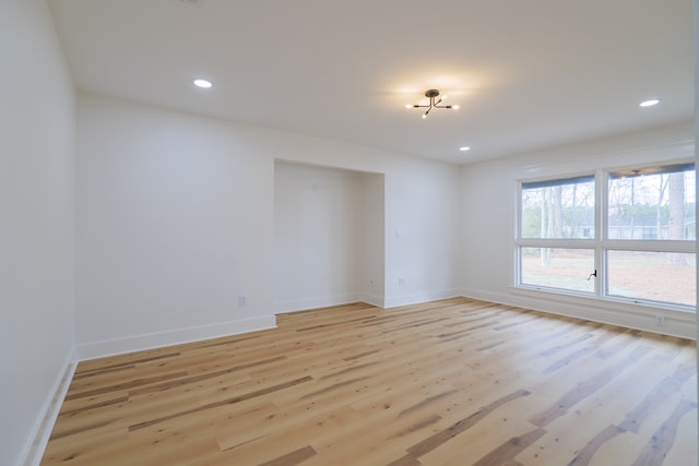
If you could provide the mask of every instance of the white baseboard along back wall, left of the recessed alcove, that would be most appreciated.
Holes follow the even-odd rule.
[[[239,333],[274,327],[276,327],[276,319],[274,315],[264,315],[260,318],[222,322],[212,325],[137,335],[127,338],[83,343],[78,345],[76,359],[82,361],[86,359],[104,358],[107,356],[122,355],[125,353],[179,345],[182,343],[191,343],[201,339],[217,338],[221,336],[236,335]]]

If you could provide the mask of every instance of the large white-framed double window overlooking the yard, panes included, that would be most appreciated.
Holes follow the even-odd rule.
[[[694,164],[522,182],[517,285],[696,306]]]

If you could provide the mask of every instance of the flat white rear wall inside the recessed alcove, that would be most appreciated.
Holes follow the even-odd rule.
[[[277,312],[358,299],[362,174],[277,163],[274,298]]]

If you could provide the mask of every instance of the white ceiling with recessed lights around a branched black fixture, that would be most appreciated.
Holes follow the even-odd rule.
[[[81,89],[420,157],[467,163],[692,118],[692,0],[49,4]],[[214,87],[194,88],[199,76]],[[433,87],[461,109],[405,108]]]

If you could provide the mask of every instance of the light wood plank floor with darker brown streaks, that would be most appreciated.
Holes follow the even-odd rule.
[[[696,465],[694,342],[454,298],[81,362],[42,465]]]

